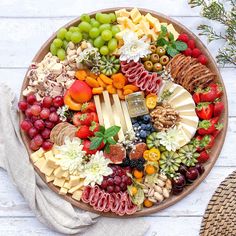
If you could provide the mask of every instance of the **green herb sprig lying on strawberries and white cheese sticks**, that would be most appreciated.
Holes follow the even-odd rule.
[[[116,141],[114,140],[114,136],[118,134],[120,131],[120,127],[113,125],[109,127],[108,129],[105,129],[104,126],[99,127],[99,131],[95,133],[95,137],[91,138],[91,144],[89,149],[90,150],[95,150],[97,149],[102,142],[105,144],[105,152],[109,153],[110,152],[110,145],[111,144],[116,144]]]

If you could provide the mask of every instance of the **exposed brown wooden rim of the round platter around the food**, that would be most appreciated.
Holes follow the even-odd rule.
[[[109,12],[114,12],[118,9],[121,9],[121,8],[102,9],[99,12],[109,13]],[[132,8],[126,8],[126,9],[131,10]],[[196,41],[196,46],[203,52],[203,54],[205,54],[208,57],[209,63],[208,63],[207,66],[217,75],[218,81],[222,83],[223,88],[224,88],[224,95],[223,95],[223,98],[222,98],[223,102],[225,104],[225,111],[222,115],[224,128],[215,140],[215,144],[214,144],[214,146],[212,148],[212,151],[211,151],[210,160],[204,165],[205,172],[192,185],[186,186],[184,188],[184,191],[180,195],[178,195],[178,196],[172,195],[170,198],[168,198],[167,200],[165,200],[164,202],[162,202],[159,205],[154,205],[151,208],[143,208],[143,210],[138,211],[138,212],[134,213],[131,216],[123,216],[123,217],[137,217],[137,216],[145,216],[145,215],[149,215],[149,214],[152,214],[152,213],[156,213],[160,210],[163,210],[163,209],[177,203],[178,201],[183,199],[185,196],[190,194],[206,178],[206,176],[209,174],[212,167],[214,166],[218,156],[220,155],[222,146],[224,144],[226,131],[227,131],[227,125],[228,125],[228,102],[227,102],[226,90],[225,90],[224,83],[223,83],[222,77],[220,75],[220,72],[217,68],[217,64],[214,61],[214,59],[212,58],[212,56],[211,56],[210,52],[207,50],[207,48],[203,45],[203,43],[200,41],[200,39],[195,34],[193,34],[189,29],[187,29],[185,26],[183,26],[179,22],[177,22],[177,21],[175,21],[175,20],[173,20],[173,19],[171,19],[171,18],[169,18],[169,17],[167,17],[167,16],[165,16],[161,13],[158,13],[158,12],[155,12],[155,11],[152,11],[152,10],[148,10],[148,9],[139,9],[139,10],[142,14],[146,14],[148,12],[151,13],[154,17],[158,18],[160,20],[160,22],[172,23],[173,26],[175,27],[175,29],[178,32],[182,32],[182,33],[185,32],[188,35],[190,35],[190,37],[193,38]],[[92,12],[89,15],[94,16],[97,12],[98,11]],[[68,28],[68,27],[73,26],[73,25],[78,25],[79,22],[80,22],[80,18],[78,17],[78,18],[72,20],[71,22],[69,22],[68,24],[66,24],[64,27]],[[49,52],[49,46],[50,46],[51,42],[53,41],[53,39],[55,38],[55,36],[56,36],[56,33],[54,33],[44,43],[44,45],[40,48],[40,50],[38,51],[36,56],[33,58],[33,62],[40,62],[44,58],[44,56]],[[20,97],[21,99],[23,99],[22,91],[27,87],[28,82],[29,81],[27,80],[27,77],[25,76],[25,79],[24,79],[23,85],[22,85],[22,89],[21,89],[21,97]],[[24,119],[24,115],[22,113],[20,113],[20,121],[22,121],[23,119]],[[29,138],[26,136],[26,134],[24,132],[21,132],[21,136],[22,136],[23,141],[25,143],[25,146],[27,148],[28,154],[30,155],[32,151],[29,149]],[[46,183],[44,174],[42,174],[36,166],[34,166],[34,169]],[[56,192],[56,193],[59,192],[59,188],[54,186],[52,183],[46,183],[46,184],[54,192]],[[98,211],[94,210],[92,207],[90,207],[88,204],[85,204],[81,201],[79,202],[79,201],[74,200],[71,197],[71,195],[69,195],[69,194],[65,195],[65,196],[61,196],[61,197],[64,198],[65,200],[67,200],[68,202],[70,202],[71,204],[73,204],[74,206],[79,207],[83,210],[98,213],[100,215],[107,216],[107,217],[120,217],[120,216],[118,216],[114,213],[110,213],[110,212],[108,212],[108,213],[98,212]]]

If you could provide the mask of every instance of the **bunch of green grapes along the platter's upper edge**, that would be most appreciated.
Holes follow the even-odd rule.
[[[102,55],[108,55],[117,48],[117,40],[114,36],[120,29],[117,25],[113,25],[115,21],[114,13],[97,13],[95,18],[83,14],[78,26],[71,26],[68,30],[61,28],[57,32],[56,39],[50,45],[50,51],[60,60],[64,60],[68,43],[77,44],[84,39],[98,48]]]

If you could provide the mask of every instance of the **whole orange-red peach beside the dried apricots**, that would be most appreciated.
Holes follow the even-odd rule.
[[[92,89],[81,80],[76,80],[69,88],[72,99],[77,103],[88,102],[92,98]]]

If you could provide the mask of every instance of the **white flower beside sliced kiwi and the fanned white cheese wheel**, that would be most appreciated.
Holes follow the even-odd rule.
[[[180,141],[183,139],[182,132],[174,127],[167,131],[162,131],[157,134],[160,139],[160,144],[165,146],[168,151],[176,151],[180,148]]]

